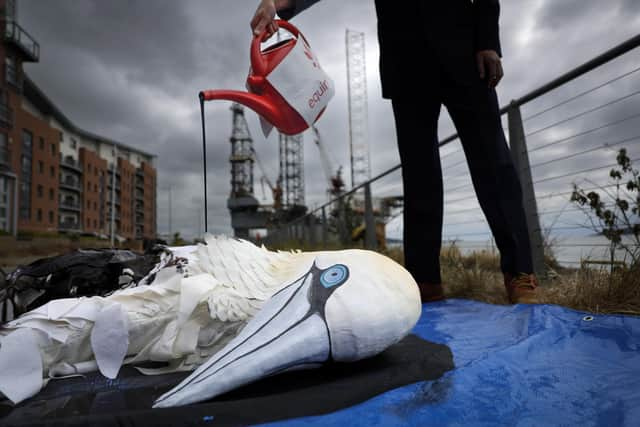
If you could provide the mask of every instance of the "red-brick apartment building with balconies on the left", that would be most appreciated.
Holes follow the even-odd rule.
[[[155,237],[155,155],[71,122],[24,73],[40,46],[15,0],[0,0],[0,13],[0,232]]]

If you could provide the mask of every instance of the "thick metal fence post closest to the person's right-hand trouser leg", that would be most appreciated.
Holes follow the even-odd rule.
[[[529,240],[531,241],[533,269],[536,274],[542,276],[546,273],[546,268],[544,265],[544,246],[540,230],[540,218],[538,218],[538,205],[533,188],[531,167],[529,166],[529,152],[527,151],[527,140],[524,135],[524,126],[522,125],[522,115],[520,114],[520,106],[515,101],[511,101],[511,104],[509,104],[507,116],[509,120],[511,157],[522,186],[522,201],[529,229]]]

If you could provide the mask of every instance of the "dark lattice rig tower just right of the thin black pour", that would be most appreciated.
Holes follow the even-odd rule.
[[[268,214],[259,211],[258,200],[253,195],[253,139],[240,104],[231,105],[233,130],[231,132],[231,193],[227,207],[231,212],[231,227],[236,237],[249,238],[249,230],[264,228]]]

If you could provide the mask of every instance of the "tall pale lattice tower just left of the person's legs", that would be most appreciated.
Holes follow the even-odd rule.
[[[364,33],[346,30],[351,186],[371,178]]]

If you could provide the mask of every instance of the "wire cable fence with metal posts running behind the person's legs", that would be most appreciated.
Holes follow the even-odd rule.
[[[615,191],[609,172],[617,166],[621,148],[636,168],[640,162],[640,66],[634,50],[639,45],[640,35],[500,110],[523,188],[536,272],[546,270],[545,256],[551,255],[550,251],[564,265],[577,265],[588,257],[608,259],[610,255],[610,245],[597,234],[593,218],[571,202],[571,195],[574,185],[602,195]],[[599,72],[593,73],[596,69]],[[463,252],[493,251],[491,231],[457,135],[440,142],[440,147],[445,145],[449,146],[441,153],[443,243],[453,242]],[[270,230],[270,238],[274,242],[313,241],[325,247],[332,239],[352,244],[361,239],[367,248],[400,244],[400,171],[401,165],[388,169],[295,221]]]

